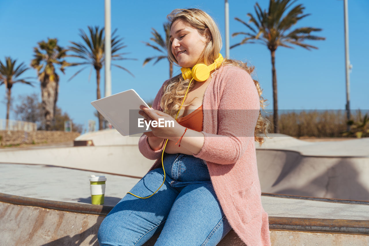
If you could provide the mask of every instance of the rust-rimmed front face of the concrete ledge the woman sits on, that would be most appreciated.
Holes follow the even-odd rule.
[[[8,246],[97,245],[99,226],[112,208],[2,193],[0,201],[0,223],[3,225],[0,236],[2,243]],[[369,221],[270,216],[269,229],[272,245],[369,243]],[[154,235],[144,246],[153,246],[159,235]],[[218,246],[244,245],[233,230],[218,243]]]

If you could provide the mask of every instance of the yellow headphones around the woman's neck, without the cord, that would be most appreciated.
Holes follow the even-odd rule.
[[[206,66],[203,63],[196,64],[193,66],[192,70],[189,67],[182,67],[182,76],[183,79],[191,79],[194,78],[196,81],[203,82],[208,79],[210,76],[210,72],[217,68],[223,61],[223,56],[219,53],[217,59],[215,59],[214,63],[210,66]]]

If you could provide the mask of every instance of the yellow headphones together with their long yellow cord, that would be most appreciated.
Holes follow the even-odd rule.
[[[184,98],[183,98],[181,107],[179,108],[179,110],[177,112],[177,116],[176,116],[175,119],[177,119],[178,114],[179,114],[179,111],[182,108],[182,105],[184,103],[184,99],[187,96],[187,92],[188,92],[188,89],[190,88],[190,84],[191,84],[192,80],[195,79],[196,81],[200,81],[200,82],[203,82],[203,81],[207,80],[208,77],[210,76],[210,72],[213,71],[218,66],[220,66],[222,62],[223,62],[223,56],[221,55],[221,53],[219,53],[218,58],[215,59],[214,63],[211,64],[210,66],[206,66],[203,63],[199,63],[199,64],[196,64],[195,66],[193,66],[192,70],[189,67],[182,67],[181,68],[183,79],[191,79],[191,81],[190,81],[190,83],[188,85],[186,94],[184,95]],[[165,146],[166,146],[166,143],[167,142],[168,142],[168,139],[165,141],[164,149],[163,149],[163,152],[162,152],[162,166],[163,166],[163,170],[164,170],[163,156],[164,156],[164,150],[165,150]],[[160,187],[163,186],[164,182],[165,182],[165,170],[164,170],[164,181],[163,181],[163,183],[162,183],[162,185]],[[160,187],[158,188],[158,190],[160,189]],[[158,191],[158,190],[156,190],[156,191]],[[149,195],[148,197],[138,197],[137,195],[134,195],[134,194],[132,194],[130,192],[127,192],[127,194],[134,195],[135,197],[138,197],[138,198],[149,198],[152,195],[154,195],[156,193],[156,191],[153,194]]]

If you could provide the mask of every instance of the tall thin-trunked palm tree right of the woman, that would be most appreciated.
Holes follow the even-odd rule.
[[[251,25],[235,18],[235,20],[244,24],[251,32],[235,32],[232,37],[239,34],[243,34],[246,37],[238,44],[232,45],[230,48],[242,44],[252,44],[258,43],[266,45],[272,56],[272,76],[273,76],[273,121],[274,121],[274,132],[279,133],[278,129],[278,106],[277,106],[277,75],[275,69],[275,51],[278,46],[293,48],[290,44],[301,46],[307,50],[310,48],[318,49],[315,46],[304,44],[303,42],[308,40],[325,40],[323,37],[318,37],[310,35],[310,32],[321,31],[320,28],[314,27],[300,27],[292,31],[290,29],[297,21],[310,15],[303,14],[305,7],[299,4],[293,7],[288,13],[286,13],[287,8],[289,8],[296,0],[270,0],[269,10],[262,11],[259,4],[256,3],[254,6],[256,17],[251,13],[247,16],[250,17],[249,23],[253,23],[256,28],[251,27]],[[285,14],[286,13],[286,14]]]

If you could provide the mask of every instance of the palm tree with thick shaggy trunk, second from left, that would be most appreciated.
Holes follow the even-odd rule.
[[[63,58],[66,49],[58,45],[58,39],[48,38],[48,41],[38,42],[38,47],[34,48],[34,59],[31,66],[37,69],[37,76],[41,82],[42,111],[45,117],[45,129],[51,130],[54,121],[54,112],[59,93],[59,75],[56,73],[56,65],[60,66],[60,71],[65,74],[65,67],[70,66]]]

